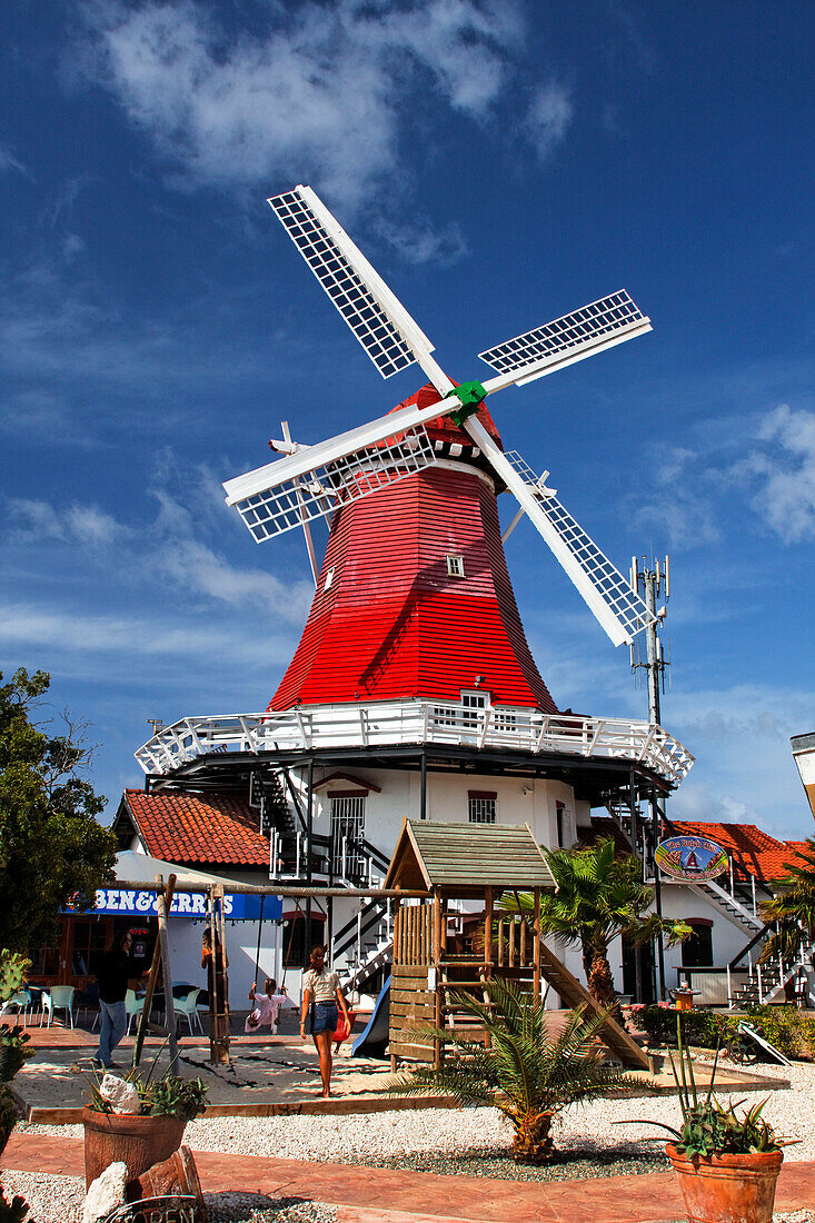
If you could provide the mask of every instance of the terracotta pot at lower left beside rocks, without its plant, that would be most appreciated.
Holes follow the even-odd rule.
[[[127,1166],[127,1180],[136,1180],[154,1163],[169,1159],[181,1146],[186,1121],[179,1117],[133,1117],[82,1109],[84,1125],[84,1179],[95,1180],[117,1161]]]

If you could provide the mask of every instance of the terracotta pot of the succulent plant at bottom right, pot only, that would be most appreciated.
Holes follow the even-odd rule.
[[[689,1223],[772,1223],[783,1151],[689,1158],[668,1142]]]

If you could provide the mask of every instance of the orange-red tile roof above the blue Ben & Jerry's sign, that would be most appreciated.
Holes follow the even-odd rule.
[[[240,799],[125,790],[122,806],[153,857],[180,866],[268,867],[258,815]]]

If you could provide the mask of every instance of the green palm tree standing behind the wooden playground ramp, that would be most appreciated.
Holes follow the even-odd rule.
[[[608,944],[624,934],[635,944],[650,942],[658,933],[673,944],[693,931],[683,921],[649,912],[653,893],[641,882],[641,866],[633,854],[617,855],[614,841],[603,838],[586,849],[546,850],[557,892],[541,895],[541,931],[569,945],[579,945],[589,993],[622,1021],[608,964]],[[532,912],[532,898],[523,893],[516,901],[504,898],[503,906]]]

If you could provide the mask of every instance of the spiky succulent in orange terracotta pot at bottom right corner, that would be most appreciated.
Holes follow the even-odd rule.
[[[679,1179],[689,1223],[772,1223],[776,1183],[791,1144],[780,1139],[761,1115],[766,1099],[742,1115],[743,1104],[722,1104],[713,1096],[718,1049],[710,1086],[696,1088],[693,1059],[684,1041],[683,1015],[677,1013],[678,1068],[668,1051],[679,1092],[682,1128],[651,1124],[674,1136],[666,1153]],[[647,1124],[647,1123],[641,1123]]]

